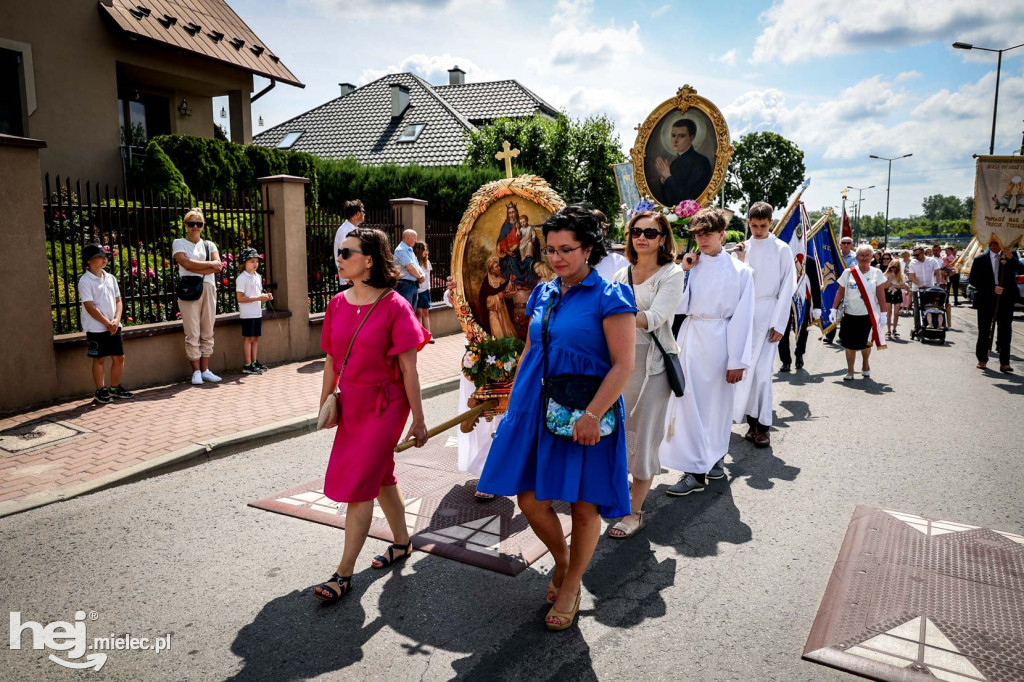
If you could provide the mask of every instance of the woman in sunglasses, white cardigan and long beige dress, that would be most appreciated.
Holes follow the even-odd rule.
[[[665,351],[679,352],[672,321],[683,299],[683,271],[676,265],[676,243],[669,221],[660,213],[638,213],[626,228],[626,256],[632,265],[615,273],[630,284],[637,305],[636,364],[623,396],[626,399],[626,450],[633,487],[633,513],[608,531],[610,538],[629,538],[644,526],[643,503],[662,469],[657,449],[665,439],[665,417],[672,389],[665,358],[651,341],[656,335]]]

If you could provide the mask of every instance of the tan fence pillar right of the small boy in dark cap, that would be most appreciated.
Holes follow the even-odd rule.
[[[292,313],[287,324],[287,345],[278,361],[305,359],[309,345],[309,283],[306,273],[306,200],[304,177],[271,175],[259,178],[266,193],[268,237],[266,258],[276,285],[273,307]]]

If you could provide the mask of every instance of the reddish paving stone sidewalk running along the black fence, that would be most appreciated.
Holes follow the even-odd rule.
[[[466,339],[436,339],[419,355],[425,392],[457,385]],[[131,359],[129,358],[129,363]],[[145,388],[96,406],[70,400],[0,419],[0,516],[82,495],[174,462],[315,425],[319,359],[219,384]],[[125,384],[131,389],[130,365]],[[13,429],[13,431],[11,431]]]

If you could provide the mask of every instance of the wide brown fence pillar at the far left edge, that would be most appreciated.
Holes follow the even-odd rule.
[[[17,262],[0,267],[0,377],[4,385],[0,412],[50,399],[59,387],[39,180],[39,150],[45,146],[42,140],[0,135],[0,206],[4,212],[0,242],[15,249],[11,256]]]

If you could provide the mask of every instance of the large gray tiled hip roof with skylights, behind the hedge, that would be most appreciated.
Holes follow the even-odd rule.
[[[391,84],[404,85],[410,105],[391,120]],[[415,142],[399,142],[406,126],[426,126]],[[354,157],[361,163],[457,166],[466,157],[473,125],[415,74],[390,74],[256,135],[254,144],[276,146],[293,130],[305,131],[292,146],[325,159]]]

